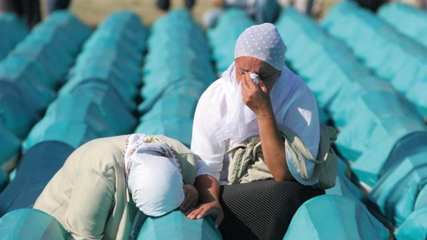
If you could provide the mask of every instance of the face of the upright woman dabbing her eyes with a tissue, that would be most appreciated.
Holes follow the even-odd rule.
[[[246,72],[256,73],[259,78],[263,80],[268,91],[271,91],[274,83],[280,77],[281,71],[274,68],[272,65],[267,64],[258,58],[242,56],[235,60],[236,64],[236,80],[237,84],[242,80],[242,75]]]

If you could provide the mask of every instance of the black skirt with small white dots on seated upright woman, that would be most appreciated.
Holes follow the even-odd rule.
[[[224,240],[281,240],[296,210],[322,194],[296,181],[274,179],[221,186],[219,230]]]

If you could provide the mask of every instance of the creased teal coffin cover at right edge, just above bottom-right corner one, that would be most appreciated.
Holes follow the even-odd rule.
[[[427,132],[414,133],[399,141],[368,195],[372,208],[397,227],[417,208],[416,200],[426,199],[426,193],[421,193],[427,183],[426,144]],[[419,200],[418,206],[423,204]]]

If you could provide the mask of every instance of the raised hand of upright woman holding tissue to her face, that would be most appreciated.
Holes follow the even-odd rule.
[[[270,94],[263,80],[256,85],[248,72],[242,76],[242,97],[246,106],[256,115],[272,112]]]

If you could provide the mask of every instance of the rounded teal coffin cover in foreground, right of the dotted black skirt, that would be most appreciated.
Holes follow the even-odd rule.
[[[312,198],[298,208],[283,240],[388,240],[389,231],[361,203],[338,195]]]

